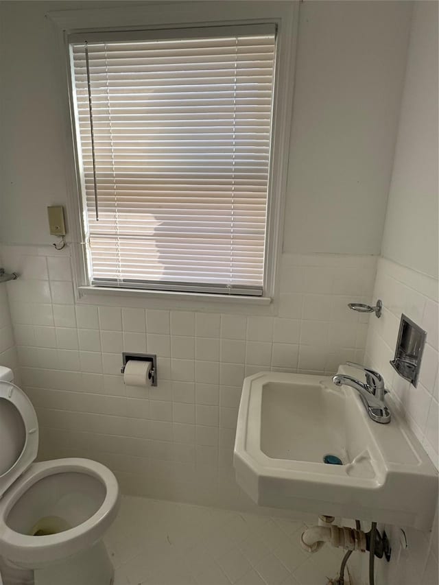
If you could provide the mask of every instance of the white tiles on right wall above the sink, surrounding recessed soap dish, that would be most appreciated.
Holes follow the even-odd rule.
[[[438,468],[438,280],[380,258],[375,297],[383,300],[383,315],[370,320],[365,363],[383,374],[392,398]],[[427,331],[416,388],[389,363],[394,357],[401,313]]]

